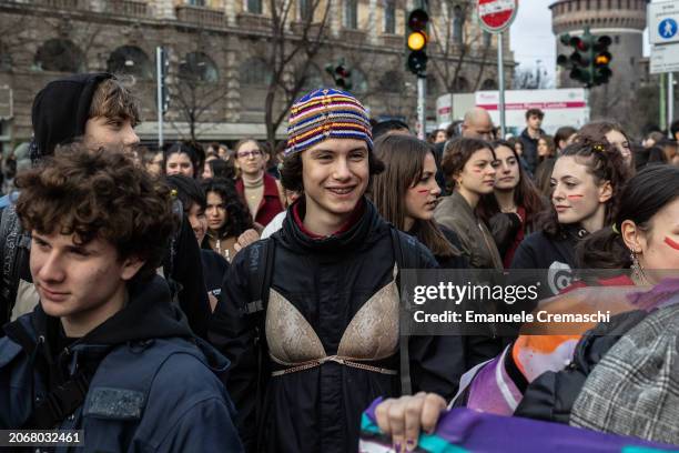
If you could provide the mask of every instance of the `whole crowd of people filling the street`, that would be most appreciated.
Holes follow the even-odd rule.
[[[550,137],[543,118],[501,138],[475,108],[423,141],[318,89],[276,149],[151,151],[114,76],[50,82],[0,200],[0,429],[81,429],[85,451],[351,452],[383,399],[397,452],[449,405],[679,444],[679,286],[660,272],[679,269],[677,141],[608,121]],[[629,270],[610,298],[651,302],[594,336],[408,336],[405,269]]]

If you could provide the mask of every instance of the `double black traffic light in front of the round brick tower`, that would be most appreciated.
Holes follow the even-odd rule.
[[[612,71],[608,67],[612,59],[608,47],[611,39],[608,36],[596,37],[585,28],[581,38],[564,33],[559,37],[564,46],[572,48],[570,56],[557,57],[557,64],[570,70],[570,78],[587,88],[608,83]]]

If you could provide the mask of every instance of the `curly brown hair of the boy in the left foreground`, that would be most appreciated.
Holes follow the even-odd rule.
[[[59,147],[53,157],[22,172],[17,188],[17,214],[26,230],[74,234],[79,245],[110,242],[121,260],[144,261],[135,281],[155,274],[176,225],[170,189],[122,150]]]

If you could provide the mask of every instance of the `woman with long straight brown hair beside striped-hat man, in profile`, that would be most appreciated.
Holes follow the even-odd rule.
[[[440,188],[433,148],[412,135],[391,134],[375,142],[375,154],[385,164],[371,189],[379,215],[417,238],[440,268],[466,268],[457,234],[434,221]]]

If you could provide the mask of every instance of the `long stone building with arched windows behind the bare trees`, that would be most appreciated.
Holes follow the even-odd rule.
[[[288,4],[282,26],[287,51],[316,34],[311,61],[295,58],[282,83],[304,76],[305,90],[332,85],[325,66],[343,58],[352,91],[374,118],[415,123],[416,80],[405,70],[404,33],[414,0],[2,0],[0,1],[0,141],[12,145],[31,135],[30,109],[49,80],[80,71],[128,74],[140,98],[142,140],[153,142],[155,49],[170,53],[166,140],[201,141],[266,137],[265,98],[275,61],[271,8]],[[417,2],[418,3],[418,2]],[[327,8],[327,10],[326,10]],[[280,12],[280,11],[278,11]],[[496,39],[482,32],[470,0],[429,1],[427,118],[436,97],[497,87]],[[311,14],[311,16],[310,16]],[[325,19],[325,20],[324,20]],[[509,42],[508,39],[505,40]],[[509,80],[514,61],[505,56]],[[277,48],[275,48],[277,50]],[[301,49],[304,54],[306,48]],[[302,67],[295,64],[302,62]],[[186,88],[186,80],[194,85]],[[274,90],[272,111],[284,111],[288,92]],[[11,99],[10,99],[11,97]],[[2,113],[11,103],[11,115]],[[7,107],[7,105],[6,105]],[[7,109],[4,109],[7,110]],[[191,120],[190,113],[193,114]],[[433,125],[433,124],[430,124]],[[277,137],[284,137],[282,123]]]

